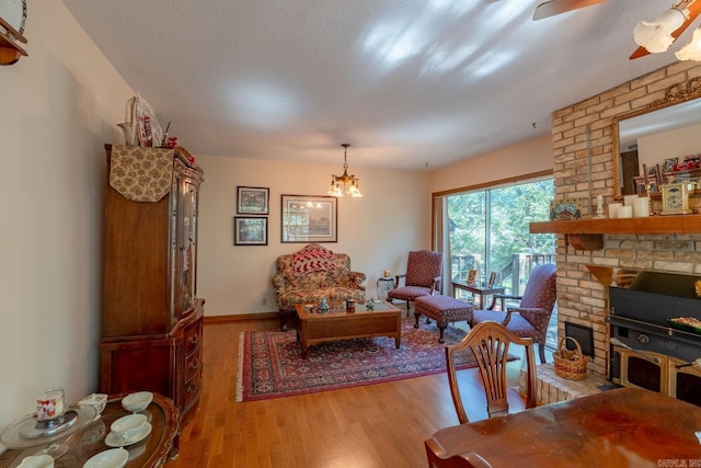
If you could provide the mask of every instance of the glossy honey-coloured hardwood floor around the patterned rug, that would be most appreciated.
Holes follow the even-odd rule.
[[[458,424],[446,374],[264,401],[235,403],[239,334],[277,320],[206,323],[199,411],[166,468],[426,467],[424,440]],[[289,333],[294,333],[290,330]],[[510,363],[518,385],[520,361]],[[461,370],[471,420],[486,418],[476,369]],[[471,391],[473,389],[474,391]],[[513,410],[524,408],[516,391]]]

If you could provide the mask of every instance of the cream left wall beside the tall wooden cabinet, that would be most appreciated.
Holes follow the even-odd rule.
[[[0,427],[43,388],[97,390],[103,145],[131,94],[58,0],[34,3],[30,56],[0,67]]]

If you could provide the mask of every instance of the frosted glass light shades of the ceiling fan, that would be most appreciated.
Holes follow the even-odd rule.
[[[641,21],[633,30],[633,38],[639,46],[644,47],[651,54],[666,52],[675,42],[674,33],[685,22],[690,21],[689,7],[696,0],[681,0],[676,5],[665,10],[653,22]],[[677,33],[677,36],[681,32]],[[701,60],[701,28],[693,32],[693,38],[689,44],[675,53],[679,60]]]

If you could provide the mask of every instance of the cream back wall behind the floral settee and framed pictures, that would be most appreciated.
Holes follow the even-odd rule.
[[[197,157],[205,170],[199,209],[197,295],[206,316],[277,310],[271,284],[278,255],[304,243],[280,242],[280,195],[325,195],[336,165]],[[409,250],[430,248],[428,173],[352,165],[363,198],[338,199],[338,242],[323,243],[350,255],[350,266],[368,275],[376,296],[383,270],[403,271]],[[271,189],[267,246],[233,246],[237,186]],[[265,305],[264,305],[265,303]]]

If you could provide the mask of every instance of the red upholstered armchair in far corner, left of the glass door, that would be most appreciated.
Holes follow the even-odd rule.
[[[440,272],[443,271],[443,252],[420,250],[409,252],[406,273],[394,277],[394,289],[387,293],[387,299],[406,301],[406,316],[409,305],[417,297],[432,296],[440,293]],[[404,278],[404,286],[400,287],[400,279]]]

